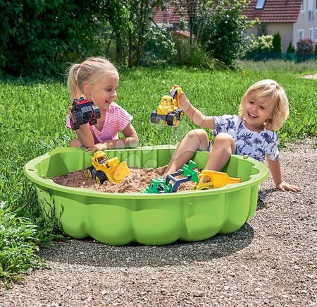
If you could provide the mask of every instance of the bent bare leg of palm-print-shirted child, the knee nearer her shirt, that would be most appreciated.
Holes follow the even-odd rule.
[[[219,133],[209,152],[205,169],[209,169],[210,171],[221,171],[229,161],[230,156],[235,154],[236,151],[237,147],[232,136],[228,133]]]

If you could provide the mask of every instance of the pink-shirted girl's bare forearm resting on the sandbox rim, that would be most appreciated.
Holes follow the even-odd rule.
[[[90,150],[90,155],[92,155],[97,150],[106,149],[122,149],[122,148],[135,148],[139,144],[139,138],[137,136],[137,131],[132,126],[128,124],[122,131],[124,138],[119,138],[118,140],[106,140],[104,143],[97,143],[87,148],[86,151]]]

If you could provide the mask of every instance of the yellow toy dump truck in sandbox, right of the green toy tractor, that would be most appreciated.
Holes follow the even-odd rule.
[[[194,185],[193,190],[207,190],[209,188],[221,188],[229,183],[239,183],[242,178],[234,178],[221,171],[209,171],[204,169],[199,174],[199,182]]]

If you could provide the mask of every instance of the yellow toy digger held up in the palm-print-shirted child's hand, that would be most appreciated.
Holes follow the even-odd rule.
[[[177,127],[184,118],[184,111],[180,109],[180,93],[182,88],[173,86],[170,95],[161,98],[161,103],[156,111],[151,113],[151,123],[159,124],[160,120],[168,126]]]

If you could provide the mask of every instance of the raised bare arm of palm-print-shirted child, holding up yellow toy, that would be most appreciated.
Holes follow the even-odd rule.
[[[184,110],[187,117],[201,128],[215,128],[215,121],[213,116],[206,116],[202,114],[199,109],[196,109],[186,98],[185,93],[180,93],[180,107]]]

